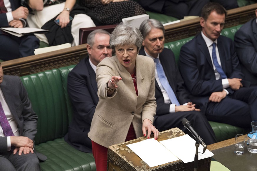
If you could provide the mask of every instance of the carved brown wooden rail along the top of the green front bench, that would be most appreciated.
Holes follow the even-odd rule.
[[[244,24],[255,17],[257,4],[228,10],[225,28]],[[194,36],[201,31],[200,18],[165,26],[165,43]],[[6,75],[24,76],[32,73],[77,64],[87,56],[86,44],[2,62]]]

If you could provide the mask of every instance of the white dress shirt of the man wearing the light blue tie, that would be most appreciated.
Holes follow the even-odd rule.
[[[154,57],[150,56],[146,51],[145,51],[145,54],[146,54],[146,56],[152,58],[153,60],[155,59]],[[157,59],[160,62],[160,54],[158,54]],[[155,79],[156,79],[156,81],[157,81],[157,83],[158,83],[158,85],[159,85],[159,87],[160,87],[160,89],[161,89],[161,91],[163,93],[164,103],[165,104],[169,104],[169,103],[171,103],[169,95],[166,92],[166,90],[163,88],[163,85],[160,82],[160,79],[159,79],[159,76],[158,76],[158,72],[157,72],[157,69],[156,69],[156,63],[154,63],[154,64],[155,64]],[[168,80],[168,78],[166,76],[165,76],[165,78]],[[176,93],[176,92],[174,92],[174,93]],[[188,103],[185,103],[183,105],[187,105],[187,104]],[[175,113],[175,106],[176,106],[176,104],[170,104],[170,113]]]

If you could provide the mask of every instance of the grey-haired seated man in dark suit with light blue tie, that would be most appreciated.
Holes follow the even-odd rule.
[[[160,131],[178,127],[192,136],[181,122],[182,118],[187,118],[206,144],[215,143],[214,132],[205,115],[196,109],[195,104],[191,103],[188,98],[173,52],[164,48],[164,26],[155,19],[148,19],[142,22],[140,31],[143,35],[144,47],[140,49],[139,54],[154,59],[156,67],[155,98],[157,109],[154,120],[155,127]],[[163,86],[160,79],[161,75],[156,60],[160,61],[160,65],[163,67],[168,89]],[[174,100],[168,95],[171,91],[174,92]]]

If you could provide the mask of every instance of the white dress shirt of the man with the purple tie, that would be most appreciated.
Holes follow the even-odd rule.
[[[11,114],[11,111],[4,99],[4,95],[3,95],[1,88],[0,88],[0,101],[1,101],[2,107],[4,109],[4,114],[6,115],[6,118],[11,126],[11,130],[12,130],[14,136],[19,136],[17,124],[16,124],[14,117]],[[0,124],[0,137],[4,137],[4,132],[3,132],[1,124]],[[11,138],[10,137],[7,137],[7,147],[8,147],[8,151],[10,151],[11,150]]]

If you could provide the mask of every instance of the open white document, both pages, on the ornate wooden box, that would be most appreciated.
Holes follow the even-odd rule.
[[[128,144],[135,154],[137,154],[149,167],[163,165],[178,159],[184,163],[193,162],[195,157],[195,140],[189,135],[163,140],[158,142],[153,138],[138,143]],[[203,152],[202,145],[198,152]],[[199,160],[212,157],[213,153],[206,150],[204,154],[198,153]]]

